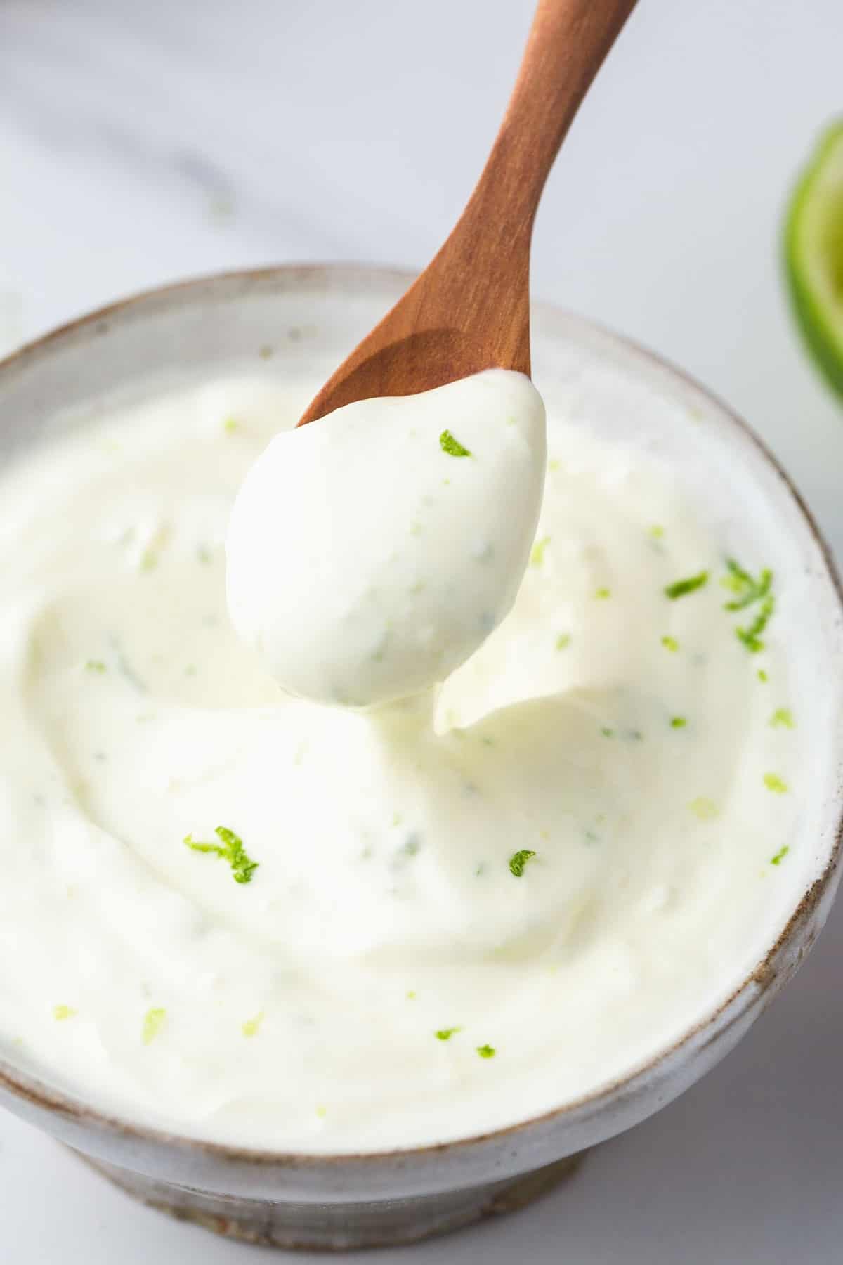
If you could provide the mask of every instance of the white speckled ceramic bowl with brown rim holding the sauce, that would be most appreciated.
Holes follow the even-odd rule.
[[[94,312],[0,364],[0,460],[49,441],[68,406],[83,424],[86,411],[116,392],[140,393],[155,382],[244,367],[321,381],[408,280],[378,268],[279,267],[187,282]],[[724,528],[752,525],[777,576],[799,588],[800,622],[789,635],[799,648],[813,759],[799,837],[808,868],[794,879],[789,916],[680,1041],[622,1082],[511,1128],[439,1146],[291,1155],[191,1141],[106,1116],[43,1070],[0,1054],[0,1102],[148,1203],[255,1243],[340,1250],[409,1242],[518,1208],[567,1176],[588,1147],[645,1120],[728,1054],[823,926],[839,877],[843,769],[843,617],[828,550],[784,472],[723,405],[629,343],[537,306],[533,367],[551,406],[556,383],[566,383],[571,398],[583,349],[613,374],[617,435],[675,463]]]

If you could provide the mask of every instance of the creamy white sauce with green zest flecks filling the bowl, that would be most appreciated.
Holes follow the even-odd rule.
[[[739,558],[752,581],[728,573],[669,469],[551,411],[526,573],[476,653],[373,712],[289,697],[230,626],[224,544],[303,397],[245,378],[173,391],[0,479],[0,1054],[133,1120],[243,1145],[485,1132],[669,1046],[792,898],[804,762],[775,614],[752,632],[766,559]],[[593,387],[580,411],[607,401]],[[441,423],[415,407],[406,505],[384,500],[359,417],[356,439],[327,420],[270,444],[255,471],[292,503],[258,487],[238,511],[233,592],[240,568],[265,589],[244,630],[301,693],[339,681],[354,697],[358,669],[367,701],[435,679],[479,644],[476,612],[495,624],[509,603],[540,412],[502,429],[474,405]],[[402,425],[383,417],[391,460]],[[446,428],[470,458],[440,447]],[[397,559],[368,536],[361,571],[353,552],[349,574],[320,557],[320,468],[350,541],[358,510],[372,525],[388,505]],[[497,511],[513,515],[503,534]],[[294,521],[301,569],[273,541]],[[434,598],[398,600],[396,577]],[[465,591],[442,610],[450,582]],[[415,611],[452,658],[412,641]],[[339,648],[322,617],[331,636],[348,619]],[[388,620],[401,639],[379,660]]]

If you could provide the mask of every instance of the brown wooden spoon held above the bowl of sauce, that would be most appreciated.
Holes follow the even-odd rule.
[[[636,0],[538,0],[518,78],[468,206],[425,272],[325,383],[298,425],[354,400],[530,373],[530,242],[580,101]]]

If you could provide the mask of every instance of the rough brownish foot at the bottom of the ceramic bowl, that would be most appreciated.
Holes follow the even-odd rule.
[[[78,1152],[77,1152],[78,1154]],[[120,1189],[179,1221],[262,1247],[353,1251],[417,1242],[517,1212],[574,1175],[588,1152],[469,1190],[377,1203],[270,1203],[211,1194],[81,1156]]]

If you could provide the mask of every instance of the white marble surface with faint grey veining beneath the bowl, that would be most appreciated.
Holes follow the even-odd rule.
[[[423,264],[492,138],[530,10],[0,0],[3,349],[185,275]],[[538,295],[651,344],[743,411],[838,554],[843,410],[796,343],[777,249],[804,151],[843,110],[842,47],[839,0],[641,0],[551,177],[535,258]],[[567,1189],[360,1260],[839,1262],[842,955],[843,906],[738,1051]],[[258,1255],[133,1206],[0,1120],[4,1262]]]

